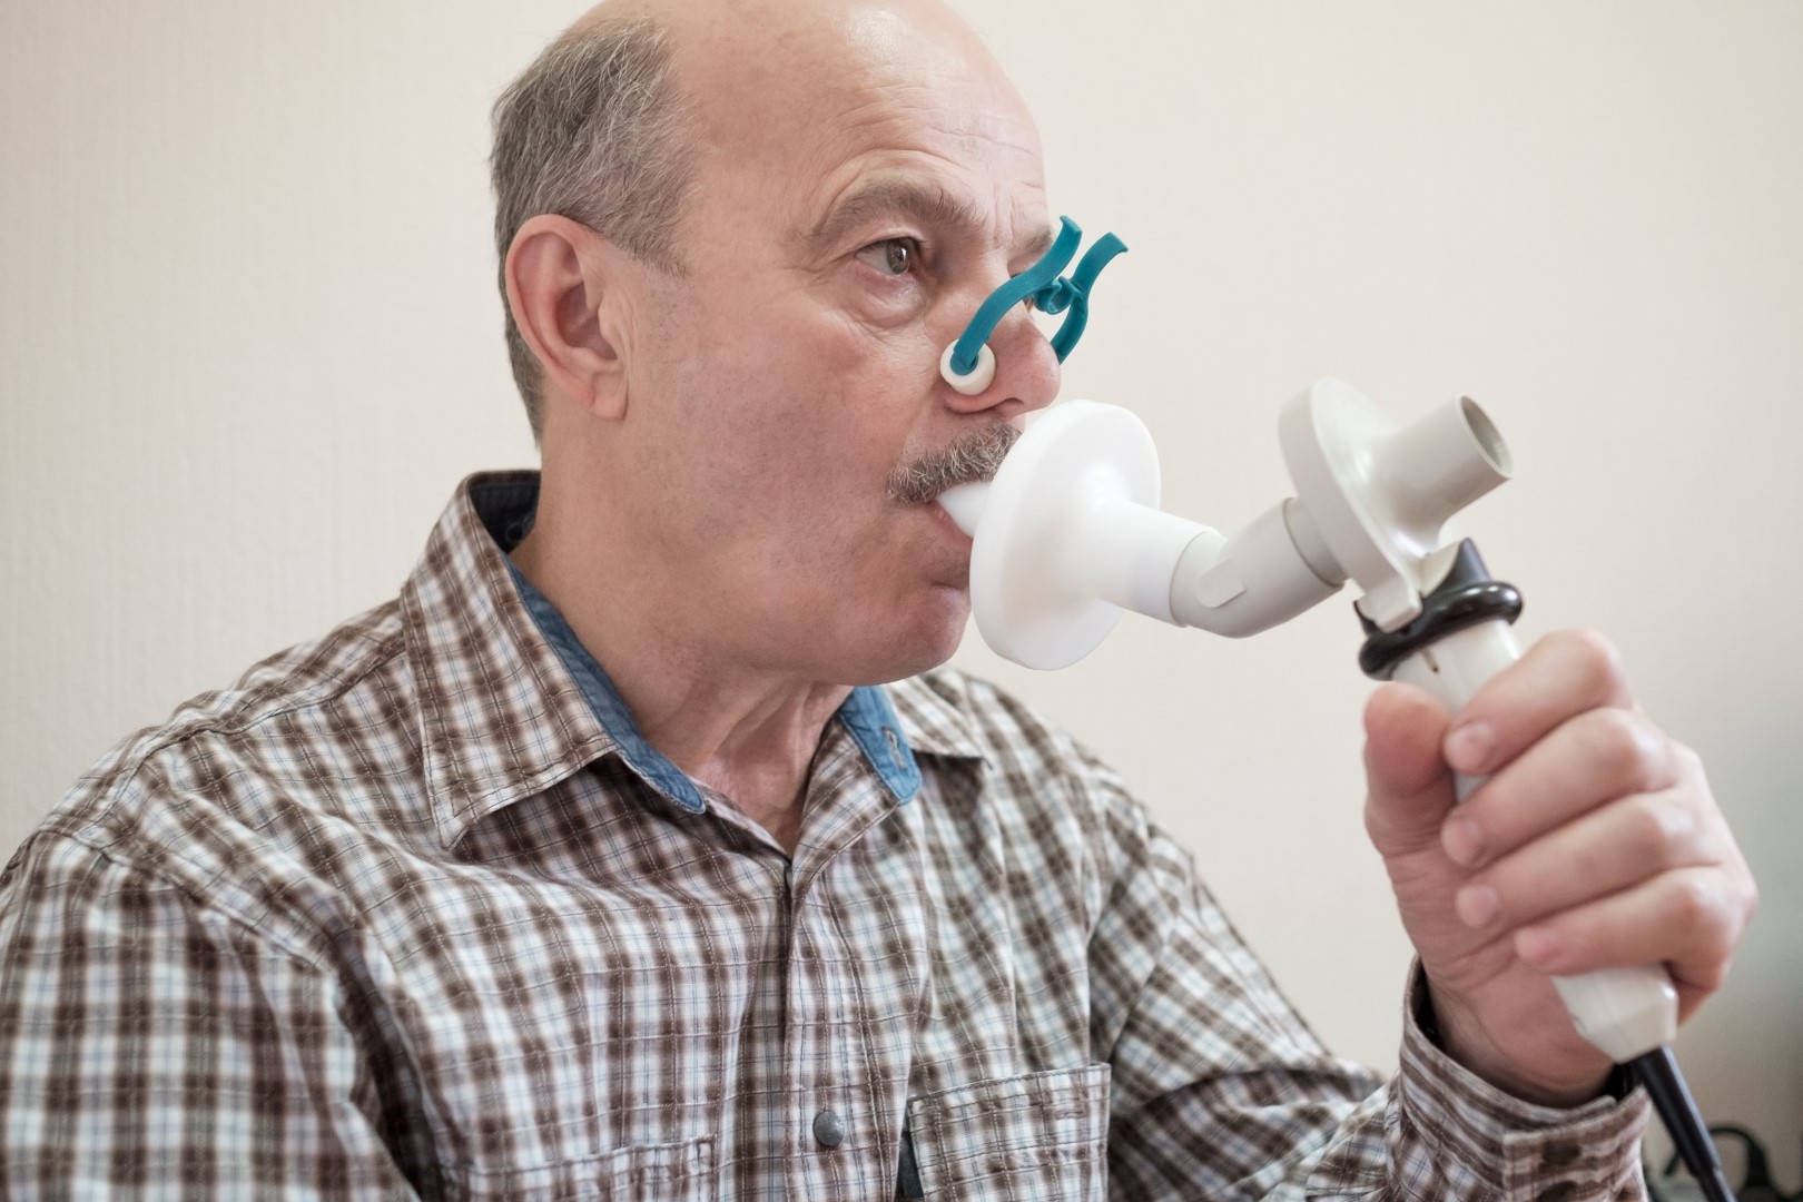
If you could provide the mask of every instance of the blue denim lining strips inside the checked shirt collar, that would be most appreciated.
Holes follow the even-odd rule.
[[[507,560],[507,568],[514,577],[514,587],[519,589],[519,600],[525,604],[526,613],[532,615],[532,622],[582,690],[590,708],[595,712],[595,721],[613,739],[627,766],[683,809],[691,813],[707,809],[707,802],[701,798],[701,791],[694,780],[673,764],[667,755],[645,742],[645,737],[638,732],[638,723],[633,721],[633,712],[626,708],[626,701],[613,687],[613,681],[608,679],[608,672],[588,652],[588,647],[575,636],[575,631],[570,629],[570,624],[557,613],[550,598],[521,575],[514,560]],[[902,723],[896,719],[889,696],[876,685],[860,685],[838,706],[838,721],[846,724],[864,759],[882,779],[889,793],[894,795],[896,802],[902,806],[911,802],[920,793],[920,766],[914,762],[914,751],[902,735]]]

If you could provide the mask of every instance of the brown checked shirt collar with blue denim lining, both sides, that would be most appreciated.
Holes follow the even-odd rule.
[[[532,526],[537,490],[537,472],[471,476],[402,591],[426,773],[447,847],[480,818],[609,753],[683,809],[705,809],[694,780],[645,742],[606,670],[507,559]],[[838,708],[898,804],[920,791],[916,748],[983,755],[954,697],[948,676],[864,685]]]

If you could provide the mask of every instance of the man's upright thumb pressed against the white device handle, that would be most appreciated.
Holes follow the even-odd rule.
[[[1414,685],[1385,685],[1365,705],[1365,831],[1385,860],[1439,847],[1453,807],[1448,721]]]

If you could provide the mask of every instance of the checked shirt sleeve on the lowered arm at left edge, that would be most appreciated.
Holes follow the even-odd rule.
[[[334,979],[81,842],[0,878],[0,1193],[413,1197]]]

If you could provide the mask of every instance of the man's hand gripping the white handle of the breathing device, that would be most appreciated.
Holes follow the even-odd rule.
[[[1385,685],[1365,733],[1365,827],[1455,1060],[1576,1105],[1610,1063],[1549,975],[1662,962],[1680,1020],[1720,988],[1753,874],[1697,755],[1641,714],[1606,640],[1542,640],[1453,723]],[[1489,780],[1455,807],[1453,771]]]

